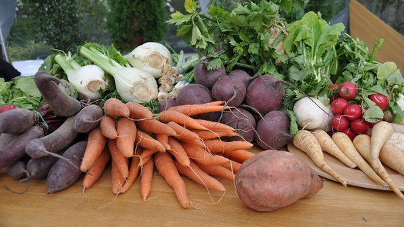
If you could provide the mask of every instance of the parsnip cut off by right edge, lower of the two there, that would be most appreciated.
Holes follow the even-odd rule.
[[[380,150],[379,159],[384,165],[404,176],[404,152],[396,145],[384,144]]]

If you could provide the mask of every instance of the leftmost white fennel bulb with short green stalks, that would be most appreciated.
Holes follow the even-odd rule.
[[[91,100],[99,99],[101,95],[98,91],[108,88],[105,71],[95,64],[81,66],[72,57],[60,54],[55,55],[55,62],[65,71],[67,81]]]

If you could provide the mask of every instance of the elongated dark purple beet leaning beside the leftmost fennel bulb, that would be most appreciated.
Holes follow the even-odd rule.
[[[81,102],[59,88],[59,78],[51,76],[45,71],[38,71],[34,75],[34,82],[43,99],[58,115],[74,116],[81,110]]]

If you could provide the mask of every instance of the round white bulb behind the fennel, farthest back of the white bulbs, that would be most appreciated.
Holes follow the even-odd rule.
[[[173,64],[170,50],[161,43],[147,42],[123,56],[132,67],[142,69],[160,78]]]

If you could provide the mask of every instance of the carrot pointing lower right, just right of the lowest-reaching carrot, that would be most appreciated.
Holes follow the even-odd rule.
[[[175,160],[175,165],[177,166],[177,170],[178,172],[180,172],[180,174],[188,177],[189,179],[192,179],[196,183],[206,186],[206,188],[210,188],[215,191],[226,191],[226,188],[224,188],[224,185],[220,183],[220,181],[210,176],[206,172],[203,172],[203,170],[201,170],[201,168],[198,167],[198,165],[196,165],[194,161],[191,160],[189,166],[183,166],[178,163],[177,160]]]

